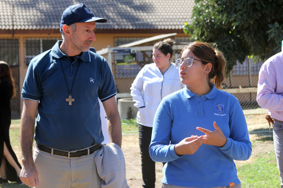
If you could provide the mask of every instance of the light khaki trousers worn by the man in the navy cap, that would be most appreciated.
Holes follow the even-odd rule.
[[[39,175],[40,188],[101,188],[102,179],[97,174],[94,157],[74,159],[43,152],[35,147],[33,160]]]

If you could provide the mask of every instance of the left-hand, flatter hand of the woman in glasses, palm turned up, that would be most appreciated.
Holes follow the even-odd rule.
[[[204,136],[191,136],[181,140],[175,145],[175,153],[180,156],[184,154],[194,154],[197,149],[207,140]]]

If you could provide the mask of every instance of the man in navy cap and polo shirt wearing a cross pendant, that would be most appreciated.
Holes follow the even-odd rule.
[[[84,4],[69,6],[60,24],[63,40],[30,62],[22,89],[20,132],[20,179],[26,185],[101,187],[94,160],[104,140],[98,99],[107,115],[110,141],[121,147],[114,78],[107,61],[89,51],[96,40],[96,22],[106,21]]]

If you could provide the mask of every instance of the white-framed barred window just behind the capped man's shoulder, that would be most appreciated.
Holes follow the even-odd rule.
[[[36,55],[52,49],[60,39],[25,39],[25,64],[28,66]]]

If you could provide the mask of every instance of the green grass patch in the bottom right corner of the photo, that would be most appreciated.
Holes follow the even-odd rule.
[[[253,163],[238,167],[238,176],[243,188],[280,187],[275,153],[257,155]]]

